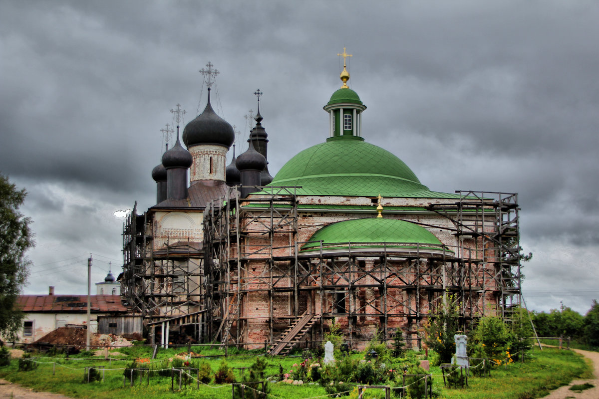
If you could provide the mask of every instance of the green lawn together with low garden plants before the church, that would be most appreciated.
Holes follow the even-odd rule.
[[[373,345],[378,345],[373,340]],[[92,397],[96,399],[107,399],[118,396],[121,399],[145,399],[152,397],[156,399],[167,399],[177,397],[194,397],[199,399],[229,399],[231,398],[231,386],[225,382],[216,383],[214,380],[207,382],[211,384],[210,388],[200,385],[196,389],[195,382],[189,385],[183,385],[179,391],[179,386],[175,383],[175,392],[171,392],[170,364],[173,364],[176,358],[176,349],[165,349],[159,351],[158,359],[149,363],[150,349],[144,347],[132,347],[119,349],[120,352],[128,352],[129,358],[126,361],[112,361],[108,366],[108,361],[104,358],[92,360],[66,360],[64,356],[47,361],[56,361],[66,367],[56,367],[56,375],[53,375],[53,367],[50,364],[41,364],[37,370],[26,372],[17,371],[16,361],[11,362],[10,366],[0,368],[0,378],[5,378],[16,383],[22,383],[38,391],[54,391],[71,397]],[[267,389],[271,395],[280,398],[301,399],[308,397],[319,397],[326,394],[340,394],[357,396],[354,389],[359,384],[371,385],[391,385],[399,387],[415,382],[408,388],[410,397],[416,398],[422,394],[423,380],[420,377],[406,377],[404,382],[404,370],[409,374],[426,374],[421,368],[416,368],[419,361],[424,358],[423,352],[407,351],[403,358],[390,356],[388,361],[382,362],[380,359],[372,358],[370,361],[365,357],[365,352],[350,353],[349,355],[337,358],[335,364],[324,366],[319,358],[301,359],[299,357],[277,357],[274,359],[259,357],[256,361],[256,352],[252,355],[249,352],[235,351],[237,355],[231,355],[224,360],[223,351],[218,349],[205,349],[202,355],[213,357],[191,358],[189,367],[204,370],[200,373],[202,376],[213,376],[221,371],[222,376],[228,376],[229,380],[243,382],[250,386],[251,380],[266,382],[270,379],[279,379],[282,371],[294,370],[297,376],[304,376],[303,385],[291,385],[286,382],[266,383]],[[307,352],[305,352],[307,354]],[[432,351],[429,352],[432,354]],[[301,351],[295,352],[295,355],[303,355]],[[170,361],[170,359],[173,361]],[[133,360],[139,360],[136,366],[149,367],[149,386],[146,386],[146,377],[143,383],[134,380],[134,386],[126,384],[123,386],[122,370],[113,370],[131,366]],[[32,363],[32,362],[28,362]],[[303,366],[302,366],[303,363]],[[33,363],[32,363],[33,364]],[[84,384],[82,383],[84,370],[83,367],[96,367],[101,364],[107,365],[105,380],[103,383]],[[235,367],[235,370],[233,369]],[[239,370],[241,367],[247,368],[244,372]],[[72,370],[75,368],[76,370]],[[158,370],[167,368],[168,376],[160,376]],[[210,368],[210,371],[208,370]],[[282,369],[282,370],[281,370]],[[303,371],[301,371],[303,370]],[[488,392],[497,392],[501,389],[506,397],[523,397],[528,392],[546,392],[555,386],[563,385],[574,377],[583,376],[588,366],[580,357],[570,351],[558,351],[556,349],[545,349],[543,352],[534,351],[533,355],[527,357],[525,363],[513,363],[507,367],[494,367],[491,377],[470,377],[469,388],[443,388],[443,377],[438,367],[432,367],[428,373],[433,374],[433,392],[437,392],[443,398],[487,398]],[[229,372],[230,371],[230,372]],[[195,374],[191,373],[194,377]],[[289,374],[283,372],[283,374]],[[34,376],[34,377],[32,377]],[[257,382],[255,381],[255,382]],[[418,382],[417,382],[418,381]],[[310,382],[318,382],[319,385],[309,385]],[[256,391],[247,388],[244,389],[243,399],[259,399],[263,397],[261,384],[257,384]],[[394,395],[398,390],[395,389]],[[251,394],[251,396],[250,396]],[[256,395],[256,396],[254,396]],[[382,397],[382,391],[368,389],[364,398]]]

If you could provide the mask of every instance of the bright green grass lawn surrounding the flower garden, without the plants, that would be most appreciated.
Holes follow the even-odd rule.
[[[165,360],[184,350],[184,348],[178,348],[159,351],[158,358]],[[128,354],[126,361],[113,361],[109,365],[103,358],[84,361],[62,359],[60,363],[69,367],[100,366],[103,364],[107,368],[119,368],[125,367],[135,357],[149,358],[151,356],[149,348],[141,346],[119,348],[118,351]],[[224,355],[224,352],[219,349],[204,350],[202,355]],[[248,367],[253,363],[255,355],[256,352],[229,351],[227,362],[229,367]],[[361,357],[360,354],[355,356]],[[210,358],[207,361],[210,363],[211,368],[216,371],[220,364],[220,358]],[[297,357],[268,359],[266,374],[278,374],[279,364],[282,364],[283,369],[288,371],[294,363],[299,363],[299,361],[301,360]],[[434,391],[440,392],[440,397],[447,399],[535,398],[545,395],[551,389],[567,384],[576,377],[592,376],[591,368],[582,357],[571,351],[559,351],[552,348],[546,348],[543,351],[536,349],[524,364],[514,363],[507,367],[496,367],[492,370],[491,377],[470,377],[470,387],[464,389],[443,388],[443,377],[438,367],[431,367],[431,373],[434,374]],[[184,388],[180,392],[171,392],[170,377],[156,376],[150,378],[149,387],[146,387],[144,380],[143,385],[139,385],[139,382],[137,382],[137,385],[131,387],[127,382],[127,386],[123,388],[122,370],[107,371],[104,383],[84,384],[82,383],[83,370],[69,370],[68,368],[56,366],[56,375],[53,376],[51,364],[40,364],[33,371],[17,371],[17,361],[14,360],[10,366],[0,368],[0,377],[33,388],[35,391],[57,392],[75,398],[231,398],[231,386],[216,388],[212,384],[211,388],[203,386],[198,391],[198,389],[195,389],[195,383],[192,383],[191,387]],[[235,370],[235,377],[238,380],[241,379],[238,370]],[[326,394],[325,390],[317,385],[294,386],[276,383],[270,386],[271,395],[278,398],[301,399]],[[271,397],[271,399],[276,399],[274,397]],[[365,399],[373,397],[383,397],[383,391],[374,389],[366,391]]]

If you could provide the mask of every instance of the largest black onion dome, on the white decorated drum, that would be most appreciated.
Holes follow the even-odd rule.
[[[183,129],[183,142],[187,148],[197,144],[216,144],[229,148],[234,141],[233,127],[214,112],[210,105],[210,92],[208,92],[208,103],[204,112],[187,123]]]

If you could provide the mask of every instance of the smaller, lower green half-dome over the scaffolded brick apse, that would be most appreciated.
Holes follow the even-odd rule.
[[[418,249],[428,253],[439,253],[445,249],[450,252],[425,228],[407,221],[386,218],[344,220],[329,224],[314,233],[310,242],[301,247],[300,253],[320,252],[320,241],[323,252],[342,252],[348,248],[380,252],[383,246],[392,252],[397,252],[398,249],[411,252]]]

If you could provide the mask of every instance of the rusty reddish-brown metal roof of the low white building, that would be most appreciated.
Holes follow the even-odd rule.
[[[90,300],[92,313],[129,312],[118,295],[92,295]],[[26,313],[84,313],[87,295],[20,295],[17,305]]]

